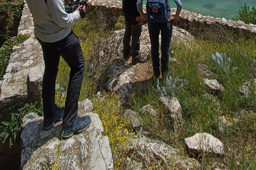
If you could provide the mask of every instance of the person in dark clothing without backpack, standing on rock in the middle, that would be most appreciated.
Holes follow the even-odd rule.
[[[123,58],[125,60],[132,56],[132,63],[144,63],[147,57],[140,55],[140,35],[142,21],[140,13],[137,11],[137,0],[123,0],[123,13],[125,20],[125,32],[123,38]]]

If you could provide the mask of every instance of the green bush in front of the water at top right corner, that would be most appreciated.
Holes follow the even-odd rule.
[[[233,19],[241,20],[246,24],[250,24],[250,23],[256,24],[255,15],[256,15],[256,10],[254,6],[252,7],[252,10],[250,10],[250,7],[247,6],[246,3],[244,3],[244,6],[241,7],[241,9],[239,9],[238,15],[236,15],[235,18]]]

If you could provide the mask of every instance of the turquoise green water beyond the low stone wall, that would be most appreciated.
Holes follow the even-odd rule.
[[[176,8],[174,1],[169,1],[171,8]],[[146,0],[143,0],[143,3],[145,4]],[[212,17],[224,17],[227,20],[232,20],[244,3],[250,7],[250,10],[253,5],[256,7],[256,0],[181,0],[181,3],[182,9]]]

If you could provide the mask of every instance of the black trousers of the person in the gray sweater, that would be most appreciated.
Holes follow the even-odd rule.
[[[77,36],[70,34],[57,42],[42,42],[37,39],[43,49],[45,70],[42,83],[42,99],[44,119],[52,119],[55,112],[55,81],[58,72],[60,55],[70,67],[63,125],[70,125],[77,116],[78,98],[82,85],[85,60]]]

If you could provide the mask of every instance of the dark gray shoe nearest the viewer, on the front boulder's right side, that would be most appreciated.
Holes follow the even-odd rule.
[[[72,121],[70,126],[62,125],[63,135],[64,138],[69,138],[73,136],[74,133],[80,133],[87,129],[90,126],[91,117],[86,115],[84,117],[76,116],[76,118]]]

